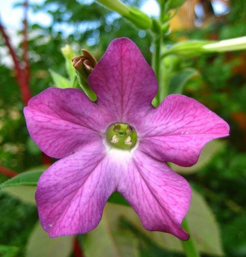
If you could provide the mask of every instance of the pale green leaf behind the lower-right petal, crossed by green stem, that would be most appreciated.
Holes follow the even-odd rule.
[[[187,214],[187,221],[192,231],[198,250],[210,255],[223,255],[218,225],[214,215],[205,200],[195,190],[192,191],[191,205]],[[168,233],[148,231],[143,228],[137,214],[130,207],[107,203],[106,208],[109,224],[115,224],[120,217],[124,217],[138,231],[151,239],[159,247],[170,251],[182,252],[180,240]],[[105,215],[105,213],[104,213]]]

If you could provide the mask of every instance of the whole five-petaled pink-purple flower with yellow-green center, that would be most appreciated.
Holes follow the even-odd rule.
[[[228,124],[182,95],[154,108],[154,71],[127,38],[112,41],[88,82],[96,102],[75,88],[48,88],[24,109],[32,139],[62,158],[38,182],[42,227],[50,237],[86,233],[118,191],[146,229],[187,240],[181,221],[191,188],[167,161],[194,165],[208,141],[228,135]]]

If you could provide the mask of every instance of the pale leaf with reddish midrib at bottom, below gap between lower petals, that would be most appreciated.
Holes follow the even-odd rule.
[[[99,225],[87,233],[83,245],[85,256],[139,256],[137,238],[130,231],[119,227],[118,216],[108,216],[108,209],[112,208],[117,206],[107,203]],[[118,213],[123,214],[124,212]]]

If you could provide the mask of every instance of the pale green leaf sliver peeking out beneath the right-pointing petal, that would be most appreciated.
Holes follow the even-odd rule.
[[[198,158],[198,161],[195,165],[191,167],[181,167],[174,163],[169,163],[170,167],[180,174],[191,174],[197,172],[203,166],[209,163],[215,153],[219,152],[225,146],[225,141],[217,139],[212,140],[205,144],[201,150],[201,154]]]

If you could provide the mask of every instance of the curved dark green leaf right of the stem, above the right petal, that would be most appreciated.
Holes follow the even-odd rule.
[[[170,94],[182,94],[183,88],[189,79],[194,76],[198,76],[199,72],[194,68],[186,68],[183,71],[175,74],[170,79],[168,85],[168,95]]]

